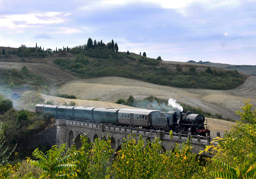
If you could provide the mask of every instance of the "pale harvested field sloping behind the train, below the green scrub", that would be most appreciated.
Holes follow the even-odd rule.
[[[239,120],[235,111],[240,110],[240,106],[244,106],[244,99],[251,98],[251,103],[256,104],[255,81],[256,77],[250,76],[236,89],[209,90],[174,88],[121,77],[102,77],[67,82],[58,88],[58,92],[73,94],[80,99],[99,98],[101,101],[109,102],[115,102],[119,98],[127,99],[129,95],[139,100],[150,95],[162,99],[173,98],[178,102]]]

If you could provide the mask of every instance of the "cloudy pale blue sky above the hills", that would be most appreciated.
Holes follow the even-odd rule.
[[[0,0],[0,46],[88,38],[166,61],[256,65],[256,0]]]

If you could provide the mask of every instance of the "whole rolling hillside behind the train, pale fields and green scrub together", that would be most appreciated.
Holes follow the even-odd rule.
[[[251,103],[256,104],[256,80],[253,76],[216,67],[212,67],[209,73],[206,73],[207,66],[201,64],[165,62],[137,54],[127,55],[108,50],[102,52],[105,54],[101,56],[108,55],[107,59],[87,57],[83,54],[79,56],[51,54],[45,58],[17,55],[3,58],[1,55],[0,68],[20,70],[26,65],[31,73],[40,75],[47,86],[50,86],[50,94],[73,94],[84,100],[98,98],[100,101],[116,102],[119,98],[127,99],[130,95],[138,100],[153,95],[165,100],[173,98],[179,103],[201,107],[204,111],[213,114],[221,113],[223,117],[235,120],[239,120],[235,111],[240,110],[240,106],[244,106],[243,99],[251,98]],[[89,56],[97,55],[94,50],[86,53]],[[109,53],[112,55],[109,56]],[[178,63],[182,69],[180,72],[177,71]],[[191,67],[194,67],[195,72],[190,71]],[[229,82],[225,81],[225,76]],[[235,80],[238,85],[241,83],[241,77],[246,79],[243,85],[236,88],[228,86],[234,88],[229,90],[215,90],[216,87],[225,87],[220,85],[222,82],[226,85],[234,85],[232,80]],[[191,83],[191,80],[194,82]],[[212,84],[207,86],[209,81]],[[9,83],[5,85],[8,87]],[[177,85],[190,88],[178,88]],[[201,89],[207,87],[213,89]],[[44,86],[41,86],[41,90],[43,88]]]

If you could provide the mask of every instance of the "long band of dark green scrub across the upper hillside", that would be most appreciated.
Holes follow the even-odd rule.
[[[159,60],[130,53],[127,55],[124,52],[115,53],[111,48],[103,46],[90,49],[87,46],[76,46],[71,51],[74,54],[82,54],[87,59],[85,61],[55,59],[54,62],[62,69],[68,69],[82,78],[119,76],[159,85],[205,89],[232,89],[244,82],[243,76],[234,71],[219,69],[214,70],[212,74],[202,70],[194,72],[194,68],[189,70],[187,66],[181,64],[177,65],[177,70],[174,70],[175,65],[160,66]]]

